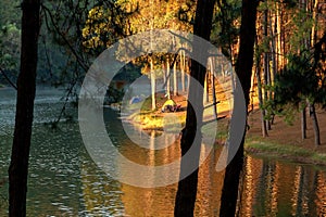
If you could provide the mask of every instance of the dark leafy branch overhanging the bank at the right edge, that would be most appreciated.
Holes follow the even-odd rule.
[[[288,64],[275,82],[275,103],[284,105],[293,103],[299,105],[310,103],[326,104],[326,71],[325,36],[312,50],[303,50],[299,54],[289,54]]]

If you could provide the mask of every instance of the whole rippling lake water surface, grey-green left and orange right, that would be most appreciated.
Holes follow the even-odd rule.
[[[89,157],[77,122],[46,126],[58,117],[64,93],[37,91],[27,193],[27,216],[173,216],[177,184],[143,189],[110,178]],[[15,91],[0,90],[0,216],[8,209],[8,166],[14,127]],[[76,108],[67,107],[68,114]],[[164,164],[179,156],[175,142],[148,152],[123,133],[116,113],[104,110],[110,138],[120,152],[143,164]],[[142,133],[135,130],[135,133]],[[150,133],[152,136],[155,132]],[[203,150],[204,151],[204,150]],[[199,170],[196,216],[217,216],[223,173],[216,173],[211,154]],[[326,216],[326,169],[313,165],[247,155],[239,216]]]

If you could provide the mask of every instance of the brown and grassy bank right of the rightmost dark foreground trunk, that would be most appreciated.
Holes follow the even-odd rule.
[[[309,117],[309,116],[308,116]],[[321,145],[314,144],[313,125],[308,118],[306,139],[301,138],[300,114],[291,125],[276,116],[268,137],[263,138],[260,125],[260,111],[253,111],[248,117],[250,129],[246,137],[246,151],[266,157],[326,166],[326,112],[317,110],[321,130]]]

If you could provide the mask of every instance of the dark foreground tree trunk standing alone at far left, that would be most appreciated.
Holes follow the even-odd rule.
[[[21,73],[17,79],[15,129],[9,167],[9,216],[26,216],[28,158],[36,86],[40,1],[22,3]]]

